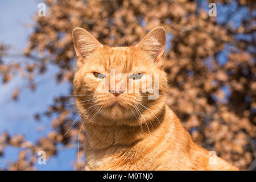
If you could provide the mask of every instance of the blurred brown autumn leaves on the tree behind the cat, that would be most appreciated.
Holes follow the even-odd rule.
[[[44,74],[49,65],[60,68],[57,82],[70,82],[76,71],[76,56],[72,30],[82,27],[102,44],[129,46],[138,43],[147,31],[163,26],[168,32],[164,69],[170,86],[167,104],[181,119],[193,140],[241,169],[256,166],[256,80],[255,80],[255,3],[254,1],[215,1],[218,5],[236,4],[236,9],[225,14],[218,23],[209,17],[202,1],[114,0],[77,1],[47,0],[47,16],[35,14],[34,32],[20,56],[28,63],[5,63],[9,47],[0,44],[0,75],[7,84],[15,75],[27,79],[30,89],[36,88],[35,76]],[[209,2],[210,3],[210,2]],[[247,11],[238,27],[233,16],[241,9]],[[217,15],[218,6],[217,6]],[[220,56],[226,53],[225,63]],[[18,100],[22,90],[14,90]],[[73,96],[56,97],[44,113],[36,113],[35,120],[49,117],[53,131],[37,143],[24,140],[22,135],[0,135],[0,156],[3,148],[16,146],[23,150],[19,159],[7,169],[35,169],[37,152],[46,151],[47,157],[58,154],[59,144],[77,146],[84,142],[84,129],[76,122],[66,135],[77,114],[68,105]],[[57,117],[52,117],[55,114]],[[28,152],[30,153],[28,157]],[[83,146],[78,154],[84,166]]]

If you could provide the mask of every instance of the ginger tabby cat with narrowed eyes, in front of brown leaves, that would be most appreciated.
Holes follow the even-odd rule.
[[[86,170],[237,170],[218,157],[209,163],[209,151],[192,141],[166,105],[163,27],[130,47],[103,46],[82,28],[73,30],[73,41],[79,67],[74,93],[86,131]],[[126,79],[117,78],[118,73]],[[156,99],[142,93],[148,74],[158,75],[152,77],[152,85],[158,82]],[[108,89],[99,86],[102,82]],[[139,92],[127,92],[129,86],[136,89],[131,84],[139,84]]]

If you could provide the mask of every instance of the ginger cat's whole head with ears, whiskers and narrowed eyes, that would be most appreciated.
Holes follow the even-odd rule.
[[[147,119],[141,114],[152,118],[162,109],[167,89],[163,27],[154,28],[130,47],[102,45],[82,28],[73,30],[73,41],[79,68],[74,79],[76,104],[91,122],[100,117],[133,125],[135,120]]]

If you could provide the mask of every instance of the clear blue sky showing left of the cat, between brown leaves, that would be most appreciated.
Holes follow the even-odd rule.
[[[0,1],[0,43],[10,45],[10,52],[20,53],[27,45],[32,28],[27,24],[33,23],[32,15],[38,11],[38,1]],[[5,59],[16,61],[16,59]],[[22,59],[20,59],[21,61]],[[24,59],[23,59],[24,60]],[[11,135],[24,134],[26,140],[35,142],[42,135],[47,135],[51,130],[51,120],[43,118],[35,122],[35,113],[42,113],[49,106],[53,98],[58,94],[68,94],[69,84],[56,84],[52,79],[57,68],[49,67],[46,74],[36,77],[36,81],[43,82],[36,88],[36,92],[30,89],[22,89],[19,100],[10,102],[11,94],[15,88],[24,87],[27,84],[20,76],[16,76],[11,82],[0,85],[0,134],[8,131]],[[38,127],[44,130],[38,132]],[[6,167],[6,162],[14,162],[18,157],[18,148],[6,147],[5,156],[0,158],[0,168]],[[76,148],[60,151],[56,157],[47,161],[46,165],[36,165],[39,170],[72,170],[72,162],[76,160]]]

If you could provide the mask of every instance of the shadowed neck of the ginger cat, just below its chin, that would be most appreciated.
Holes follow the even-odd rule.
[[[166,106],[163,105],[159,109],[159,113],[154,114],[155,117],[148,119],[142,125],[97,125],[97,121],[93,123],[85,123],[86,143],[89,148],[101,150],[111,146],[131,146],[146,138],[154,137],[163,125]],[[142,114],[143,118],[143,114]],[[129,123],[129,121],[127,121]]]

